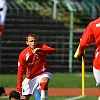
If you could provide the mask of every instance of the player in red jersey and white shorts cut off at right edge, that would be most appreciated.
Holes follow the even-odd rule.
[[[95,42],[95,51],[93,53],[93,74],[96,80],[96,85],[100,85],[100,17],[91,21],[85,29],[79,44],[79,52],[77,61],[82,62],[84,50],[92,43]],[[100,94],[99,98],[100,100]]]

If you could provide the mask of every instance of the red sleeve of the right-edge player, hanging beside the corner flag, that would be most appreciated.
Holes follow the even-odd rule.
[[[92,43],[93,39],[93,23],[90,23],[80,39],[78,55],[83,55],[84,50]]]

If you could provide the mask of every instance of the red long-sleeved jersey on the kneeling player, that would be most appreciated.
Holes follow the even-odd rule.
[[[47,66],[47,54],[55,53],[56,50],[45,44],[37,44],[36,48],[41,49],[33,53],[32,50],[27,47],[19,55],[17,91],[21,91],[24,71],[26,71],[26,78],[28,79],[32,79],[44,72],[50,72]]]

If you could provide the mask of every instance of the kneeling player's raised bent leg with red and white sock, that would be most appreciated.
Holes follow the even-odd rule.
[[[44,73],[41,75],[40,86],[41,86],[41,100],[48,100],[48,84],[52,77],[51,73]]]

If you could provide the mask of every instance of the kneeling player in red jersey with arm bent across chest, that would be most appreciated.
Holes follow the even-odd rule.
[[[52,74],[47,65],[47,54],[53,54],[56,50],[37,43],[37,36],[34,34],[26,37],[26,44],[28,47],[20,53],[18,59],[17,92],[22,94],[22,100],[29,100],[37,86],[40,86],[41,100],[48,100],[48,83]],[[24,71],[26,78],[23,81]]]

